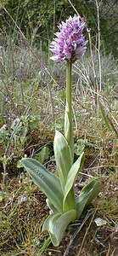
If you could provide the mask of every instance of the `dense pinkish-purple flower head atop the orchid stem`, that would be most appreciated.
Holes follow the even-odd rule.
[[[59,24],[59,32],[55,33],[56,38],[50,44],[53,56],[50,58],[58,64],[70,60],[72,62],[81,59],[87,49],[87,41],[82,34],[85,27],[83,18],[76,15]]]

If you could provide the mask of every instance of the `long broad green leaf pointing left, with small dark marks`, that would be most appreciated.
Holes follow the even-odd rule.
[[[42,190],[59,212],[62,212],[63,193],[59,183],[59,177],[40,164],[37,160],[30,158],[21,160],[25,170],[32,177],[34,183]]]

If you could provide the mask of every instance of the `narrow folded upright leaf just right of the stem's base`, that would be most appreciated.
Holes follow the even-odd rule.
[[[65,204],[67,195],[70,193],[70,189],[74,186],[76,176],[78,172],[81,171],[81,166],[83,166],[84,162],[84,153],[81,153],[80,157],[76,160],[76,162],[71,166],[70,172],[68,173],[67,181],[65,183],[65,192],[64,192],[64,203],[63,203],[63,211],[65,212]],[[72,202],[70,202],[71,204]]]

